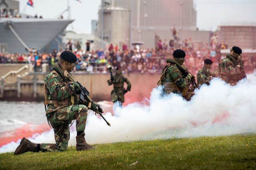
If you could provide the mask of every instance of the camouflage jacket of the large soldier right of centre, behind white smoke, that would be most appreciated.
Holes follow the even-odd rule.
[[[182,67],[187,70],[184,65],[182,65]],[[175,64],[169,64],[164,74],[164,79],[161,80],[161,84],[164,85],[166,93],[179,93],[190,85],[191,77],[184,77]]]

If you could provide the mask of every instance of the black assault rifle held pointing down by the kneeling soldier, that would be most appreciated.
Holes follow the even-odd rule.
[[[85,102],[85,101],[87,101],[87,102],[93,102],[92,101],[92,99],[91,99],[91,97],[89,96],[89,94],[90,94],[90,92],[85,88],[85,87],[83,87],[81,84],[80,84],[80,82],[78,82],[77,81],[77,84],[80,86],[80,89],[81,89],[81,92],[80,92],[80,94],[79,94],[79,100],[81,101],[81,102]],[[104,112],[103,111],[103,109],[102,109],[102,107],[100,107],[100,105],[97,105],[97,113],[105,120],[105,122],[109,125],[109,126],[111,126],[110,125],[110,123],[105,119],[105,117],[102,115],[102,113]]]

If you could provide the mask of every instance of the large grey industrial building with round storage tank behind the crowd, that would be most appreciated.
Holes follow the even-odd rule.
[[[118,45],[140,41],[151,48],[155,34],[169,40],[173,28],[181,40],[210,41],[210,31],[197,30],[193,0],[102,0],[98,14],[95,36]]]

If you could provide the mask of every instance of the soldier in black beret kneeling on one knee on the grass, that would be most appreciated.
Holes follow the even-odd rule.
[[[55,152],[67,150],[69,142],[69,124],[76,120],[77,130],[77,150],[89,150],[94,147],[85,141],[85,125],[87,120],[87,110],[97,111],[94,102],[79,103],[80,87],[67,77],[67,71],[71,71],[77,57],[69,51],[61,53],[60,62],[54,64],[54,69],[49,72],[44,79],[45,82],[45,102],[47,105],[46,117],[54,129],[56,143],[36,144],[23,138],[20,145],[15,150],[14,155],[19,155],[28,151],[31,152]],[[65,74],[66,73],[66,74]]]

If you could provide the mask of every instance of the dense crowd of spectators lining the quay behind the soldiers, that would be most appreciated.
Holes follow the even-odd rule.
[[[227,49],[226,43],[216,44],[215,34],[212,34],[210,45],[200,44],[195,47],[191,38],[177,42],[173,39],[167,43],[167,40],[159,39],[156,42],[156,48],[151,49],[133,49],[129,50],[127,45],[110,44],[105,49],[91,50],[90,41],[86,42],[86,49],[81,48],[80,42],[67,42],[66,49],[74,52],[77,56],[76,71],[88,73],[106,73],[107,66],[120,66],[124,73],[161,73],[166,65],[166,58],[172,57],[172,52],[180,48],[186,52],[185,65],[196,74],[203,66],[206,58],[213,61],[213,69],[218,68],[218,64],[225,55],[220,54],[220,49]],[[178,47],[177,47],[178,46]],[[59,60],[61,51],[54,50],[52,53],[30,52],[29,54],[0,54],[1,63],[31,63],[34,65],[35,72],[40,72],[42,65],[49,65],[52,69],[54,62]],[[254,57],[255,58],[255,57]],[[256,61],[245,62],[248,69],[256,68]]]

